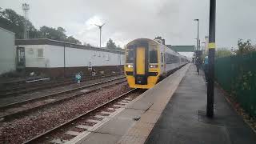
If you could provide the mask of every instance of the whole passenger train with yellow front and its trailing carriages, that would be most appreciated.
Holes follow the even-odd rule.
[[[160,78],[190,62],[157,39],[134,39],[125,50],[124,71],[130,88],[150,89]]]

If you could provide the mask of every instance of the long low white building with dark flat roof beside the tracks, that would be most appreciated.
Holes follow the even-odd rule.
[[[109,73],[122,69],[124,51],[76,45],[50,39],[16,40],[16,46],[25,48],[26,73],[38,72],[58,77],[78,72],[96,71]]]

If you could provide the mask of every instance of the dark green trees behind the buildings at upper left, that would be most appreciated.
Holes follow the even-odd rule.
[[[24,22],[26,19],[17,14],[14,10],[0,9],[0,27],[15,33],[15,38],[22,39],[24,35]],[[32,22],[27,21],[28,38],[49,38],[58,41],[71,42],[81,44],[78,39],[73,36],[66,36],[66,30],[62,27],[57,29],[48,26],[42,26],[37,30]]]

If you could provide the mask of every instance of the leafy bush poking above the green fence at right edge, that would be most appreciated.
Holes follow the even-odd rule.
[[[250,39],[245,42],[242,39],[238,39],[238,50],[235,51],[236,54],[248,54],[252,51],[256,51],[255,46],[252,46]]]

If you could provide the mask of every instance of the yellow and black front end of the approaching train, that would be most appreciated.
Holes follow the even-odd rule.
[[[126,45],[125,74],[131,88],[150,89],[160,75],[158,43],[140,38]]]

